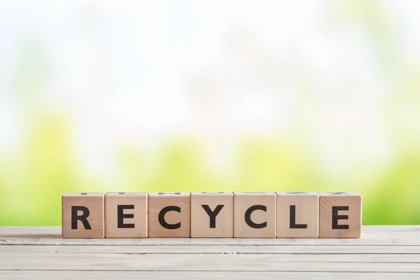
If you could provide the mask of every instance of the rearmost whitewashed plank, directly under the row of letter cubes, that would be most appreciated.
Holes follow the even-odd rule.
[[[111,246],[284,246],[284,245],[387,245],[420,246],[420,227],[365,226],[360,239],[62,239],[59,227],[3,227],[0,228],[0,246],[24,245],[111,245]]]

